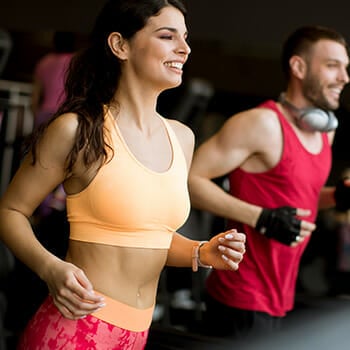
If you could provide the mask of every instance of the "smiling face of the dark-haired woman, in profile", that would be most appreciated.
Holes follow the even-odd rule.
[[[175,7],[164,7],[128,42],[123,73],[161,90],[178,86],[191,51],[186,39],[183,14]]]

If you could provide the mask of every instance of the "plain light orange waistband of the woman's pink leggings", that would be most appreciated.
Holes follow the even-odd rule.
[[[97,292],[97,294],[103,296],[106,306],[92,313],[92,316],[134,332],[142,332],[149,329],[154,305],[148,309],[137,309],[109,298],[102,293]]]

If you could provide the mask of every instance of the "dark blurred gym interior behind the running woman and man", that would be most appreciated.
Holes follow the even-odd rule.
[[[18,167],[23,140],[33,128],[30,95],[35,64],[52,50],[57,31],[74,32],[76,49],[83,47],[102,4],[97,0],[2,1],[0,194]],[[163,93],[158,108],[164,116],[188,124],[196,134],[197,144],[230,115],[279,95],[284,88],[279,62],[281,44],[297,26],[330,26],[350,42],[350,3],[345,0],[185,0],[185,4],[192,53],[182,86]],[[333,148],[330,184],[350,168],[349,86],[336,114],[340,127]],[[218,181],[226,186],[226,179]],[[193,210],[181,232],[206,239],[222,227],[220,218]],[[239,344],[241,349],[348,348],[349,227],[350,215],[339,218],[332,211],[319,214],[318,230],[302,261],[296,308],[289,317],[288,332],[279,334],[273,342],[252,340]],[[12,350],[11,339],[36,307],[37,300],[30,294],[42,293],[45,287],[5,247],[0,248],[0,350]],[[205,271],[193,274],[187,269],[164,270],[149,349],[224,349],[233,345],[201,334],[204,279]]]

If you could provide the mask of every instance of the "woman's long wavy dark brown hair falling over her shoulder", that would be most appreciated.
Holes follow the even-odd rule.
[[[87,167],[107,160],[107,148],[110,146],[104,138],[104,107],[110,105],[121,75],[119,60],[108,46],[108,36],[119,32],[125,39],[131,39],[150,17],[167,6],[177,8],[186,16],[186,9],[180,0],[107,1],[96,19],[89,45],[76,53],[70,63],[65,80],[65,101],[50,121],[33,134],[30,144],[33,164],[37,161],[38,143],[45,128],[68,112],[78,115],[78,128],[74,145],[66,159],[66,172],[72,171],[82,149],[83,162]]]

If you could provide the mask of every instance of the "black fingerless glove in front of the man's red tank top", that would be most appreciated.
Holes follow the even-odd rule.
[[[296,212],[292,207],[264,208],[255,228],[268,238],[291,245],[298,241],[300,234],[301,220],[295,217]]]

